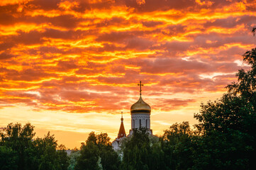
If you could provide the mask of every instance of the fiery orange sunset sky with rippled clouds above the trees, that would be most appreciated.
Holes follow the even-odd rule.
[[[247,69],[253,26],[253,0],[1,0],[0,128],[29,122],[70,149],[91,131],[114,140],[140,80],[153,134],[193,125]]]

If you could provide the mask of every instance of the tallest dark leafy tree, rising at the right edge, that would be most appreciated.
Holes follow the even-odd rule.
[[[245,52],[251,67],[240,69],[228,94],[201,105],[194,169],[254,169],[256,157],[256,49]]]

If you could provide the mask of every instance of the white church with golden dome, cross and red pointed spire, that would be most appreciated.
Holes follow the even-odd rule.
[[[136,103],[130,106],[131,128],[127,137],[130,135],[133,135],[134,129],[139,129],[139,128],[146,128],[148,131],[148,134],[152,135],[152,130],[150,129],[151,108],[148,105],[148,103],[145,103],[145,101],[143,101],[143,98],[141,97],[141,86],[143,86],[143,84],[141,84],[141,81],[140,81],[140,84],[138,84],[138,86],[140,86],[140,98]],[[122,113],[121,125],[119,128],[118,137],[116,137],[116,140],[112,142],[113,149],[115,150],[119,149],[121,146],[122,140],[125,138],[126,138],[126,130],[123,125],[123,113]]]

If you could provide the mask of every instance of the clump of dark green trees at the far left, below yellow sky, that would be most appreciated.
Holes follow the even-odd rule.
[[[30,123],[23,127],[20,123],[10,123],[1,130],[0,157],[3,157],[1,164],[4,164],[2,169],[67,169],[65,147],[58,147],[50,132],[43,138],[33,140],[33,128]]]

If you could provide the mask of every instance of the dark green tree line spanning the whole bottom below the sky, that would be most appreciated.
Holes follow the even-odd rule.
[[[194,128],[175,123],[160,137],[134,130],[118,152],[106,133],[91,132],[67,156],[50,133],[34,139],[33,125],[11,123],[0,133],[0,169],[255,169],[256,48],[243,61],[250,69],[238,70],[238,81],[220,99],[201,104]]]

